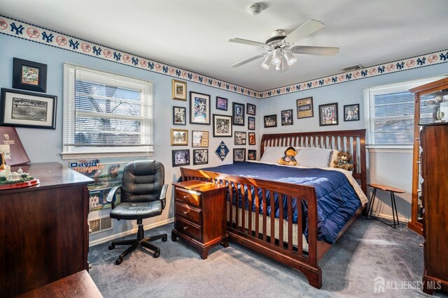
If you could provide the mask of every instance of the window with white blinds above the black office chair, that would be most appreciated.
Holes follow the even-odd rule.
[[[153,83],[64,64],[64,158],[153,151]]]

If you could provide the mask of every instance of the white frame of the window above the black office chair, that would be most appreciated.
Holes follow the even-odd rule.
[[[116,76],[120,80],[117,80],[117,84],[111,85],[113,87],[124,88],[126,84],[130,82],[139,82],[140,88],[136,87],[136,90],[140,90],[141,100],[148,99],[148,103],[145,105],[146,110],[143,113],[146,115],[140,116],[142,121],[146,123],[141,126],[141,133],[143,141],[139,145],[132,146],[75,146],[75,124],[76,119],[76,71],[87,70],[92,73],[97,73],[99,76],[104,77]],[[103,77],[103,78],[104,78]],[[99,79],[101,80],[101,79]],[[107,79],[105,79],[107,80]],[[95,80],[92,79],[92,82]],[[150,80],[144,80],[136,77],[129,77],[119,73],[112,73],[105,70],[99,70],[95,68],[89,68],[80,66],[77,64],[64,64],[64,128],[62,137],[62,159],[75,159],[75,158],[115,158],[115,157],[132,157],[132,156],[152,156],[154,153],[154,83]],[[82,114],[89,114],[89,112],[80,112]],[[147,143],[147,144],[145,144]]]

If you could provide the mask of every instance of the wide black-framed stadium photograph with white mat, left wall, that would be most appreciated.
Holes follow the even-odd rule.
[[[56,129],[57,96],[1,88],[0,125]]]

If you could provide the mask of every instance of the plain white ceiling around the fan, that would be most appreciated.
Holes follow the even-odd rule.
[[[36,24],[265,91],[448,48],[448,0],[266,0],[250,15],[248,0],[0,0],[0,15]],[[294,45],[339,47],[334,57],[296,54],[279,73],[262,59],[230,65],[264,52],[229,43],[264,43],[275,29],[290,33],[309,19],[325,27]]]

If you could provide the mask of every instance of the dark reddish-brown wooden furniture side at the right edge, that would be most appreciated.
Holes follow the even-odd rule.
[[[448,290],[448,124],[421,125],[423,291]]]

